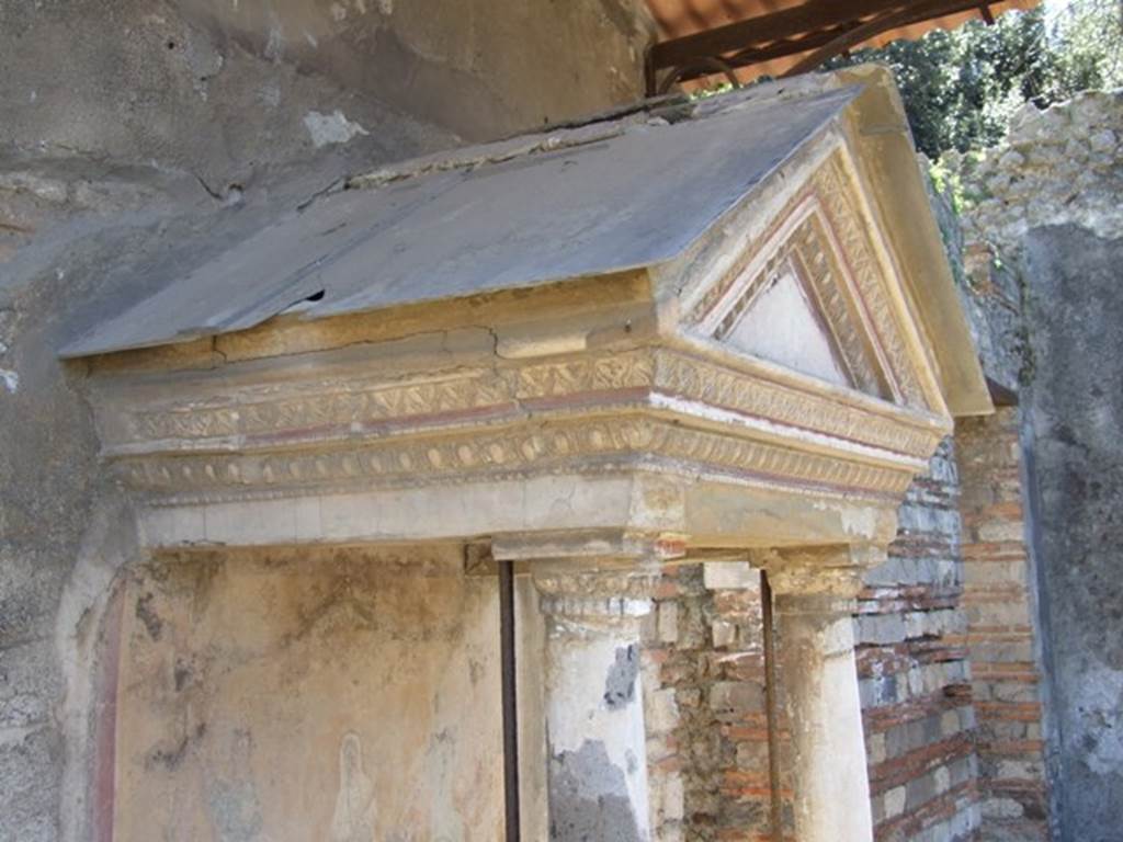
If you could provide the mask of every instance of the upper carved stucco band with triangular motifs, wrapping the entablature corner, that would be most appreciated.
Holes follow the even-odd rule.
[[[201,390],[200,390],[201,391]],[[943,430],[906,413],[879,413],[837,393],[773,382],[679,350],[639,348],[597,357],[523,366],[457,370],[416,381],[350,386],[289,383],[255,393],[238,390],[206,399],[180,397],[125,410],[126,436],[107,456],[252,450],[296,443],[354,441],[410,429],[429,430],[510,420],[581,400],[650,405],[657,395],[738,413],[769,425],[810,431],[905,457],[923,458]]]

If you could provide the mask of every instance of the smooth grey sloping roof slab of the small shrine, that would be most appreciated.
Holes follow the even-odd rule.
[[[62,355],[244,330],[310,296],[303,319],[652,266],[745,201],[857,93],[734,94],[686,119],[631,115],[359,177]]]

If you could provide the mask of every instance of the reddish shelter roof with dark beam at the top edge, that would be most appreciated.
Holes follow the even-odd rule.
[[[919,38],[971,18],[993,22],[1040,0],[648,0],[663,39],[647,56],[647,92],[722,74],[745,83],[814,70],[859,47]]]

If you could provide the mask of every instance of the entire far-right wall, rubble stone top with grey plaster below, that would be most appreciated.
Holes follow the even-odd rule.
[[[1021,284],[1046,756],[1065,842],[1115,839],[1123,822],[1121,137],[1123,92],[1093,92],[1044,112],[1029,107],[982,161],[952,162],[974,202],[968,249],[1013,267]]]

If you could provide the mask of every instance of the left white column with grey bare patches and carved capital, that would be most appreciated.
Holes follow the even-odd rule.
[[[640,622],[649,567],[536,565],[546,619],[550,840],[647,842],[647,749]]]

